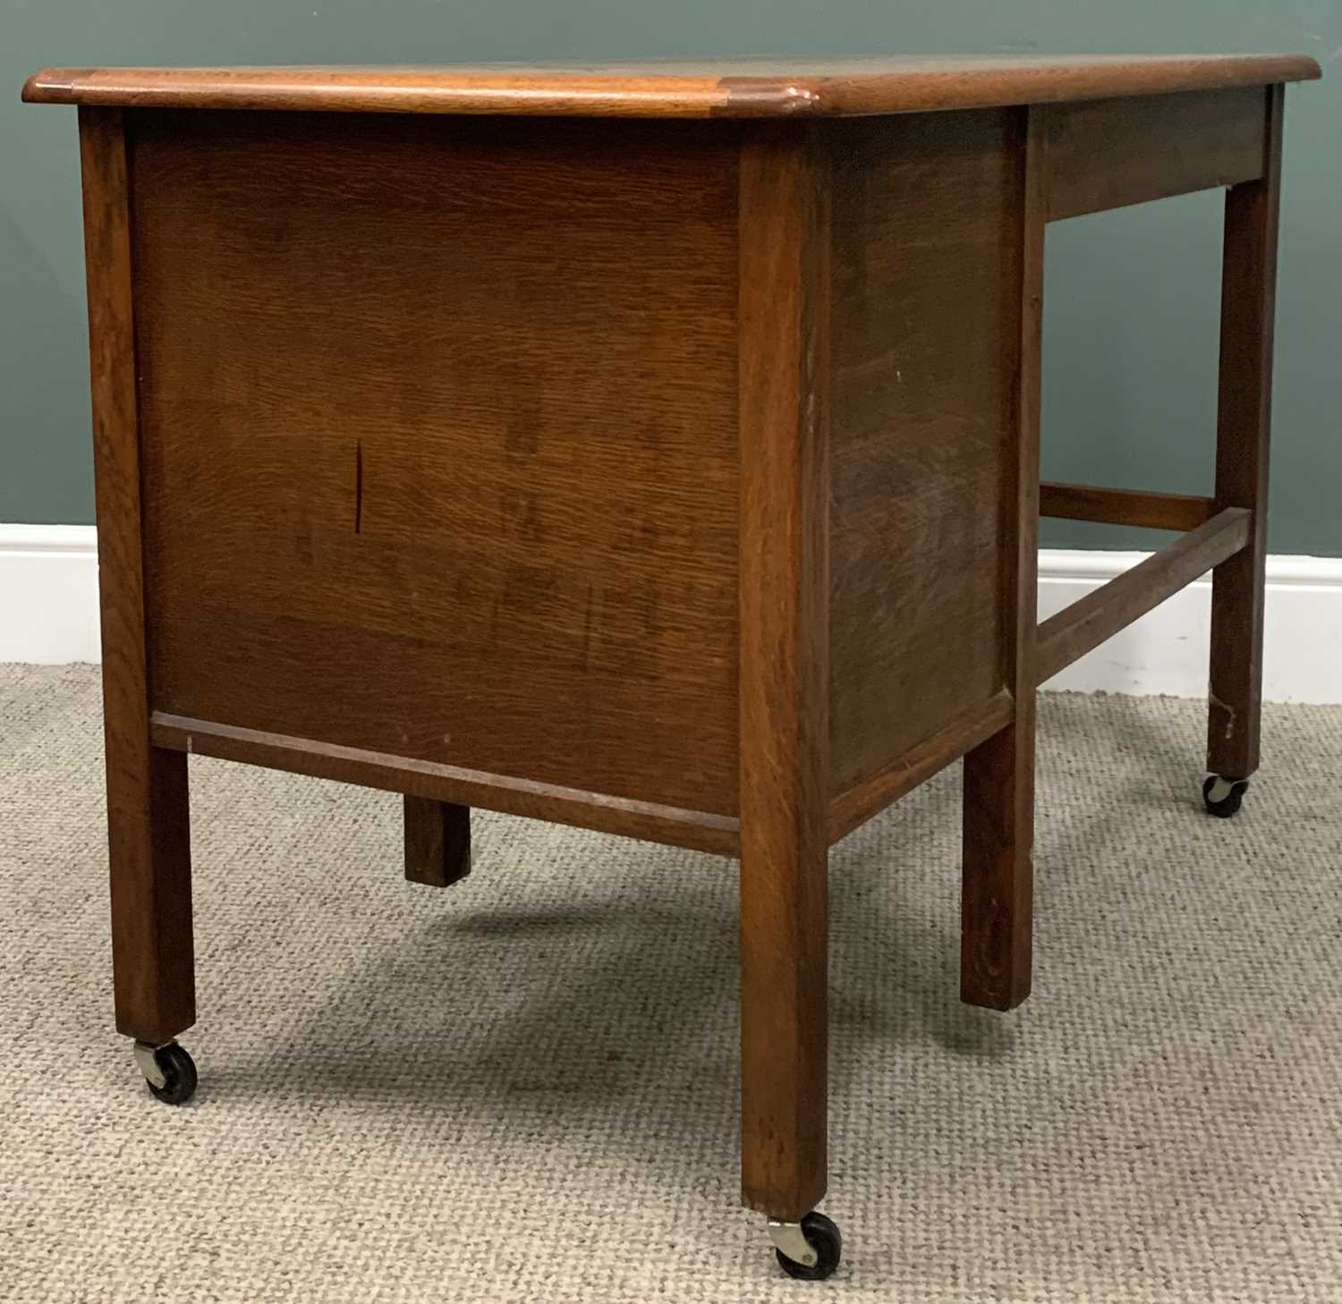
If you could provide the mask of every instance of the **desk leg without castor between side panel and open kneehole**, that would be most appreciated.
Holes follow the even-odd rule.
[[[1031,989],[1035,840],[1035,620],[1039,562],[1039,412],[1048,178],[1045,115],[1015,114],[1009,207],[1012,329],[1000,337],[1015,377],[998,506],[1004,677],[1012,723],[965,757],[960,994],[1007,1010]]]

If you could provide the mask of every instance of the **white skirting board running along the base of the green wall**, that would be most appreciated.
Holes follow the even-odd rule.
[[[1039,617],[1142,561],[1146,553],[1045,549]],[[1270,557],[1263,696],[1342,702],[1342,558]],[[1048,682],[1082,692],[1206,692],[1210,580],[1129,625]],[[97,661],[98,555],[93,526],[0,525],[0,661]]]

